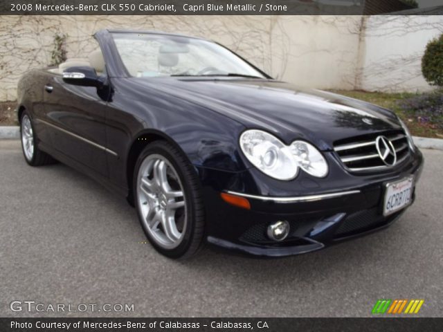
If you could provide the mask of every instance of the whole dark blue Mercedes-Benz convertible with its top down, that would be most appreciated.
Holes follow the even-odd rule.
[[[91,53],[19,81],[24,158],[126,196],[163,255],[311,252],[413,203],[423,158],[391,111],[273,80],[201,38],[94,37]]]

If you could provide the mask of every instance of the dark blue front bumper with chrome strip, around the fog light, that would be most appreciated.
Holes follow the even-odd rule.
[[[283,257],[319,250],[381,230],[407,209],[383,216],[384,184],[413,174],[414,201],[422,165],[422,154],[417,151],[411,163],[395,174],[354,176],[359,185],[335,192],[329,188],[328,192],[314,194],[307,191],[297,196],[265,196],[226,190],[226,187],[238,187],[244,182],[244,174],[199,169],[206,204],[206,240],[215,246],[249,255]],[[220,198],[220,192],[235,192],[246,197],[251,210],[229,205]],[[270,223],[279,220],[288,221],[291,231],[284,241],[271,241],[266,237],[266,229]]]

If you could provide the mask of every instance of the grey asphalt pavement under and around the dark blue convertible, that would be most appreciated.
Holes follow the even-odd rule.
[[[369,316],[377,299],[443,308],[443,152],[426,158],[417,201],[390,228],[307,255],[157,254],[136,212],[62,164],[29,167],[0,141],[0,316]],[[130,313],[27,313],[13,300],[134,304]],[[40,307],[42,308],[42,307]]]

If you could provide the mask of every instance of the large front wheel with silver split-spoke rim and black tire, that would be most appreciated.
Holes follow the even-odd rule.
[[[202,248],[201,186],[179,149],[163,140],[147,145],[134,167],[132,188],[138,219],[158,252],[184,259]]]

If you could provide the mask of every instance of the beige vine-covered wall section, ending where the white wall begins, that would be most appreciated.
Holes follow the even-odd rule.
[[[213,39],[271,76],[322,89],[352,89],[359,17],[316,16],[3,16],[0,100],[15,100],[17,80],[48,66],[54,36],[67,34],[68,57],[84,57],[102,28],[163,30]]]

